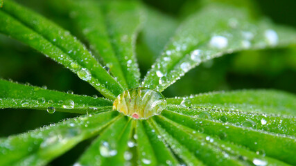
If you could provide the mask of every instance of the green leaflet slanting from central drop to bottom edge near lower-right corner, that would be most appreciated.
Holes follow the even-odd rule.
[[[250,163],[254,165],[259,165],[257,163],[261,163],[260,165],[267,165],[267,163],[269,165],[287,165],[279,160],[264,157],[264,154],[260,154],[259,156],[254,151],[250,151],[244,147],[233,145],[232,143],[225,142],[219,138],[207,136],[204,133],[184,127],[182,124],[177,124],[166,118],[162,118],[162,120],[159,118],[158,121],[163,127],[166,127],[168,132],[180,140],[180,142],[190,149],[193,149],[192,151],[195,152],[196,155],[199,155],[204,163],[207,163],[208,165],[229,165],[231,163],[231,165],[249,165]],[[193,147],[192,145],[197,142],[201,142],[202,148],[195,151],[196,146]],[[203,147],[206,147],[207,149],[203,149]],[[218,158],[214,160],[214,163],[213,160],[207,160],[207,155],[204,155],[211,153],[209,152],[211,149],[216,155],[218,155]],[[212,154],[211,156],[215,156],[215,154]],[[223,156],[220,156],[221,154]]]

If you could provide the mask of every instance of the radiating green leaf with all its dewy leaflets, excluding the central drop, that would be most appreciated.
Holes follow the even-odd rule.
[[[189,16],[180,23],[140,1],[62,4],[60,10],[69,13],[94,54],[69,31],[12,1],[0,9],[0,33],[62,64],[105,98],[1,79],[2,111],[87,115],[0,138],[0,165],[51,165],[89,138],[94,139],[73,159],[74,166],[296,165],[296,96],[291,93],[261,89],[167,98],[162,113],[143,120],[112,110],[115,98],[127,89],[164,91],[191,68],[215,57],[296,44],[295,30],[254,17],[241,5],[252,3],[245,2],[203,1],[198,11],[184,12],[183,17]],[[135,52],[139,34],[151,55],[158,57],[143,81]],[[140,96],[137,91],[126,95]],[[135,101],[138,105],[159,102],[154,95],[143,95],[145,100]]]

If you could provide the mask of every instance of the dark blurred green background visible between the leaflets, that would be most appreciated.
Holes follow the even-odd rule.
[[[18,0],[18,2],[40,12],[85,42],[71,23],[69,13],[63,12],[62,1]],[[193,0],[144,0],[144,3],[167,15],[168,20],[172,22],[172,26],[168,28],[172,31],[171,33],[186,15],[200,8],[199,1]],[[254,15],[262,13],[277,24],[296,28],[295,0],[261,0],[254,1],[255,5],[250,4],[255,9]],[[137,56],[142,76],[157,57],[155,50],[146,46],[146,35],[139,34],[137,41]],[[21,83],[29,82],[35,86],[46,85],[48,89],[58,91],[72,90],[76,94],[99,95],[92,86],[60,64],[3,35],[0,35],[0,77]],[[173,97],[234,89],[280,89],[296,94],[296,47],[245,51],[219,57],[187,73],[181,80],[166,89],[164,95]],[[0,137],[42,127],[73,116],[77,115],[4,109],[0,116]],[[68,155],[71,158],[78,156],[79,151],[85,148],[82,146],[84,144],[87,142],[82,142],[64,156]],[[58,158],[51,164],[55,165],[55,162],[60,163],[61,159]],[[67,160],[63,162],[65,165],[69,164]]]

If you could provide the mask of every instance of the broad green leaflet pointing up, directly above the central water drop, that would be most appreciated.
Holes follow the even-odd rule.
[[[93,0],[69,3],[75,23],[96,55],[100,55],[97,59],[103,58],[110,73],[125,89],[128,89],[127,82],[129,86],[135,86],[134,82],[139,81],[139,70],[134,43],[142,21],[140,17],[143,17],[139,3],[125,1],[102,5]]]

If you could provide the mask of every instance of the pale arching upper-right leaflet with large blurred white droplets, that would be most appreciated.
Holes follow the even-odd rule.
[[[295,30],[275,26],[267,19],[253,20],[241,8],[213,3],[180,25],[143,86],[164,91],[191,68],[214,57],[292,43],[296,43]]]

